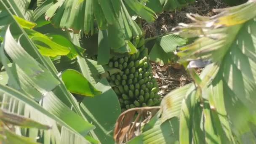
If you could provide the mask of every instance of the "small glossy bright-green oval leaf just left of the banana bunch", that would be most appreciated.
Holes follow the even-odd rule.
[[[96,90],[82,74],[73,69],[67,69],[62,72],[61,80],[63,80],[67,89],[72,93],[83,96],[96,96],[101,94],[101,91]]]

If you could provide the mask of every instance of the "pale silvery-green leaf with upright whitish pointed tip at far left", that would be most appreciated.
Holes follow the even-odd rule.
[[[26,75],[38,85],[40,88],[45,89],[45,91],[51,91],[55,88],[59,81],[51,75],[41,64],[39,64],[35,59],[32,58],[18,43],[14,40],[11,35],[11,27],[9,26],[5,37],[8,40],[4,40],[3,47],[5,48],[8,56],[11,57],[13,62],[15,62],[19,68],[26,72]]]

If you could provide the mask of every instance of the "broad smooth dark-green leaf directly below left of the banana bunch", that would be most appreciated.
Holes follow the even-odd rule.
[[[120,104],[106,79],[97,83],[95,88],[100,89],[102,94],[93,98],[85,97],[80,107],[88,121],[96,125],[94,132],[101,143],[113,144],[112,131],[117,117],[121,114]],[[102,108],[108,110],[104,111]]]

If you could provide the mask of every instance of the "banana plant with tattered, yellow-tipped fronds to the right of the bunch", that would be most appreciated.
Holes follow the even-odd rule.
[[[177,51],[194,83],[165,96],[129,144],[255,143],[255,8],[249,0],[213,17],[189,14],[194,23],[176,27],[197,38]],[[199,76],[196,67],[205,67]]]

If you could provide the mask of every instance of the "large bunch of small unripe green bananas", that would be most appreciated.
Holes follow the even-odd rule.
[[[159,87],[152,75],[148,49],[144,37],[132,40],[138,52],[133,55],[117,57],[109,61],[109,67],[122,72],[108,77],[115,93],[119,97],[122,111],[134,107],[146,107],[160,104]]]

